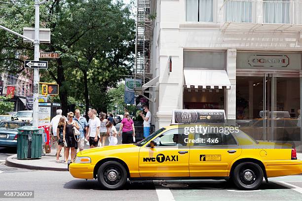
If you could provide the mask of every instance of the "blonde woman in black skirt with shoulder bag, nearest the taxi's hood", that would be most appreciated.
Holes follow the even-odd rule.
[[[76,157],[77,142],[76,142],[76,136],[75,136],[75,129],[78,130],[79,126],[73,120],[74,116],[75,115],[73,112],[69,112],[67,114],[68,121],[65,126],[65,135],[64,135],[64,139],[66,140],[66,144],[67,144],[66,151],[65,151],[65,164],[67,164],[67,162],[68,162],[70,149],[71,149],[72,162],[75,160],[75,157]]]

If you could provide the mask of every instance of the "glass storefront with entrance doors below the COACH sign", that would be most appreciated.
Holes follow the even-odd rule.
[[[301,141],[301,78],[237,76],[236,123],[257,140]]]

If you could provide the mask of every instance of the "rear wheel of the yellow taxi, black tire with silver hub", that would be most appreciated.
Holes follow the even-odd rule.
[[[232,180],[239,189],[255,190],[262,184],[263,170],[252,162],[241,163],[235,167]]]

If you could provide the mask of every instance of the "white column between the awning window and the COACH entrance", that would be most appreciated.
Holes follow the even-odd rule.
[[[226,92],[226,117],[236,119],[236,49],[227,49],[227,76],[231,83]]]

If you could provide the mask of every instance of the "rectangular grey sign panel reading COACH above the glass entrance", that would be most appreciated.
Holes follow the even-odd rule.
[[[301,53],[250,53],[238,52],[237,68],[301,69]]]

